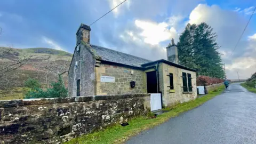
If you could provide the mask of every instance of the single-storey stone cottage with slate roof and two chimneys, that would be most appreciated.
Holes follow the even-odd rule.
[[[162,93],[162,105],[197,97],[196,70],[178,64],[172,39],[167,60],[150,61],[90,44],[91,28],[81,24],[68,73],[70,97]]]

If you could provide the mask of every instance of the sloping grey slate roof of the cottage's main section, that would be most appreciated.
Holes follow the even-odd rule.
[[[104,61],[110,61],[115,63],[121,63],[123,65],[141,67],[142,64],[151,62],[143,58],[135,57],[134,55],[118,52],[115,50],[107,49],[105,47],[91,45],[94,53],[101,57]]]

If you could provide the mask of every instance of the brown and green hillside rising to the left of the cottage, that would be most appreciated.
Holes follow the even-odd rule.
[[[13,99],[12,97],[17,99],[16,96],[22,95],[24,82],[29,77],[38,79],[44,87],[49,86],[51,81],[56,80],[58,73],[68,70],[72,59],[71,53],[44,47],[29,49],[0,47],[0,54],[2,51],[8,53],[3,58],[0,57],[0,67],[25,56],[29,57],[29,59],[18,69],[5,73],[4,83],[0,82],[0,100]],[[63,75],[63,79],[67,86],[67,73]]]

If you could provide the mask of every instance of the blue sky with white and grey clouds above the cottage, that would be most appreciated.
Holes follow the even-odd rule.
[[[76,31],[123,0],[0,1],[0,46],[49,47],[74,52]],[[90,43],[142,57],[167,59],[187,23],[206,22],[217,33],[229,79],[256,72],[256,14],[234,50],[256,6],[254,0],[127,0],[91,26]],[[231,55],[232,51],[233,54]]]

